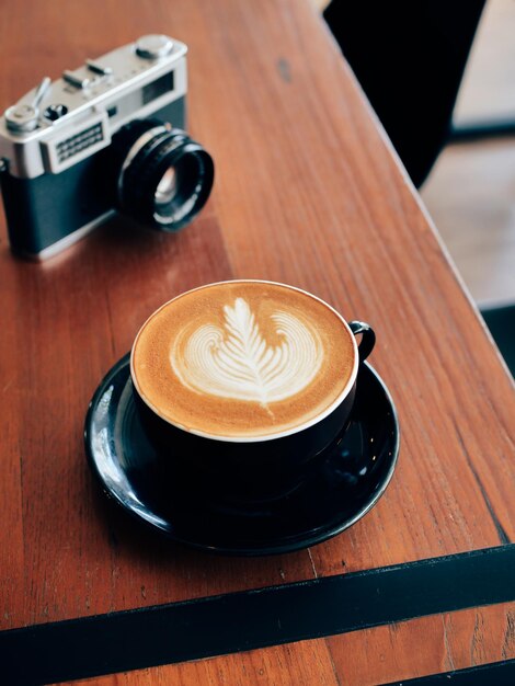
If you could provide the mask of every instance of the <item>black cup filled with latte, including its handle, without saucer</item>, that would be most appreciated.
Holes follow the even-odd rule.
[[[285,284],[220,282],[164,304],[130,355],[161,485],[238,503],[298,488],[345,430],[374,344],[368,324]]]

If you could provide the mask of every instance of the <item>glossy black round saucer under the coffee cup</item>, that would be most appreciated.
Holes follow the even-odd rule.
[[[363,517],[393,475],[399,424],[388,389],[363,363],[351,423],[309,482],[260,507],[217,506],[216,493],[196,499],[183,484],[157,478],[157,454],[135,412],[126,355],[90,403],[84,441],[102,489],[139,521],[195,548],[250,556],[319,544]]]

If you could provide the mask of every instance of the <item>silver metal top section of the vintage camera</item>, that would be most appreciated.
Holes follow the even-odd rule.
[[[59,173],[111,144],[116,130],[186,93],[187,47],[142,36],[39,85],[0,119],[0,157],[25,179]]]

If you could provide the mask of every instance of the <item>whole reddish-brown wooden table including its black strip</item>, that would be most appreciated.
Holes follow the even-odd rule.
[[[190,47],[190,129],[216,161],[198,219],[176,237],[117,220],[41,265],[11,256],[1,220],[0,682],[362,685],[485,663],[506,674],[513,386],[309,3],[4,0],[0,107],[44,75],[156,32]],[[233,277],[290,283],[371,322],[371,363],[402,430],[378,505],[278,557],[213,557],[142,535],[106,506],[83,453],[88,402],[146,317]],[[42,624],[46,633],[31,629]]]

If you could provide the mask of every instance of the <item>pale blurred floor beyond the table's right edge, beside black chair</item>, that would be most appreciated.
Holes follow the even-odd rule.
[[[510,135],[447,145],[422,197],[474,300],[515,304],[515,0],[489,0],[453,123],[506,125]]]

